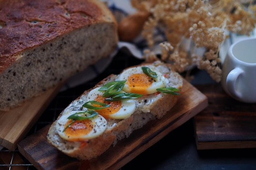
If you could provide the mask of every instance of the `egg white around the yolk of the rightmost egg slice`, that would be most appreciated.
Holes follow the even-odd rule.
[[[157,88],[164,88],[166,87],[166,78],[164,77],[164,75],[162,73],[160,73],[159,71],[154,70],[153,67],[149,67],[151,71],[155,72],[157,74],[157,78],[153,78],[154,81],[151,84],[150,87],[146,88],[144,90],[146,90],[146,94],[153,94],[157,92]],[[142,71],[141,66],[139,67],[133,67],[133,68],[128,68],[127,70],[124,70],[118,80],[128,80],[128,77],[130,77],[132,74],[136,74],[136,73],[144,73]],[[124,85],[123,91],[126,91],[128,93],[131,92],[131,87],[127,84]]]

